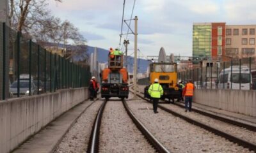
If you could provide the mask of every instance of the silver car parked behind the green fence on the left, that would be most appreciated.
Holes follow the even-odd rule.
[[[10,86],[11,97],[17,97],[18,82],[15,81]],[[31,95],[36,94],[36,85],[31,82]],[[29,80],[20,80],[20,96],[29,96]]]

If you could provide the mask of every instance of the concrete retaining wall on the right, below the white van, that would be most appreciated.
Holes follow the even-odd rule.
[[[256,117],[256,91],[196,89],[193,101]]]

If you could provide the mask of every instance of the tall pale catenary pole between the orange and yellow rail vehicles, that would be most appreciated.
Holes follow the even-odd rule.
[[[135,24],[134,24],[134,67],[133,67],[133,84],[134,84],[134,97],[133,99],[137,99],[137,37],[138,37],[138,17],[135,16]]]

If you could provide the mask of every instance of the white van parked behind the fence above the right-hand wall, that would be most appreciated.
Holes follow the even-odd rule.
[[[232,66],[232,71],[231,66],[222,69],[218,77],[218,89],[240,89],[241,83],[241,90],[250,90],[250,85],[252,85],[250,69],[247,66],[241,66],[241,75],[239,72],[239,66]]]

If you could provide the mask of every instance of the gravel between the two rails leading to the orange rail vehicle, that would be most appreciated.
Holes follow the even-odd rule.
[[[155,152],[129,118],[121,100],[110,99],[106,104],[100,127],[99,152]]]

